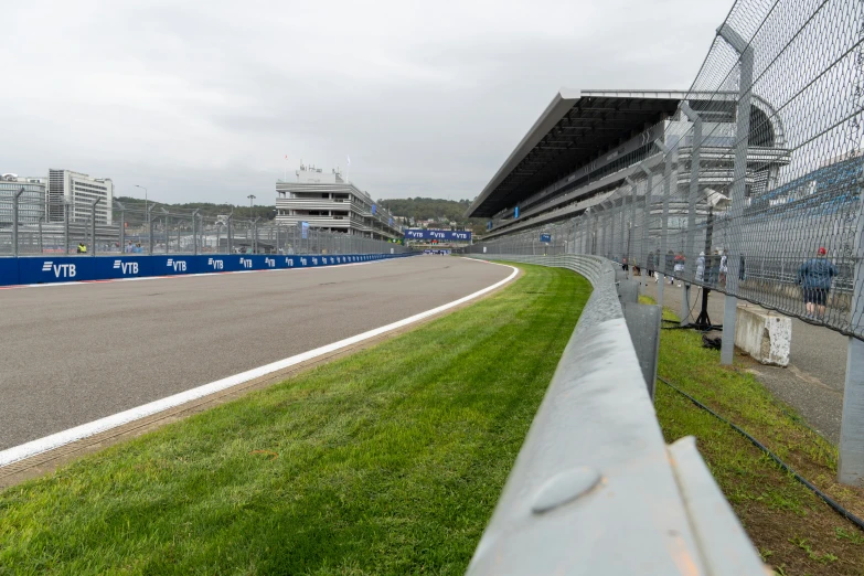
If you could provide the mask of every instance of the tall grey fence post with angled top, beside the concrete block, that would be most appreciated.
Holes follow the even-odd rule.
[[[754,52],[744,39],[728,24],[717,30],[738,54],[740,54],[740,79],[738,82],[738,105],[735,108],[735,167],[732,184],[732,207],[729,210],[728,248],[726,248],[726,298],[723,303],[723,343],[721,364],[729,365],[735,356],[735,323],[738,312],[738,270],[742,256],[742,216],[747,188],[747,145],[750,135],[750,99],[753,88]]]

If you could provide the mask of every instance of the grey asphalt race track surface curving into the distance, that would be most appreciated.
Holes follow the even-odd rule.
[[[0,290],[0,450],[402,320],[511,271],[417,256]]]

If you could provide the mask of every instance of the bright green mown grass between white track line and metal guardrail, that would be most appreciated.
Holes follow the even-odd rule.
[[[590,292],[522,267],[418,330],[0,492],[0,574],[462,574]]]

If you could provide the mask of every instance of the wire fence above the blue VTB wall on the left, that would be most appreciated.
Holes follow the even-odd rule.
[[[0,191],[0,257],[43,254],[402,254],[386,239],[302,225],[236,217],[158,204],[116,203],[110,220],[95,210],[45,217],[44,199]]]

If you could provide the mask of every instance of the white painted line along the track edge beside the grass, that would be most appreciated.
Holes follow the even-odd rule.
[[[308,360],[312,360],[318,356],[322,356],[324,354],[335,352],[337,350],[341,350],[343,348],[356,344],[359,342],[363,342],[364,340],[375,338],[377,335],[384,334],[392,330],[396,330],[398,328],[413,324],[414,322],[418,322],[425,318],[435,316],[439,312],[444,312],[445,310],[449,310],[450,308],[457,307],[469,300],[473,300],[479,296],[490,292],[508,284],[513,278],[515,278],[516,275],[519,274],[519,269],[514,268],[513,266],[489,263],[487,260],[480,260],[480,262],[486,262],[487,264],[494,264],[495,266],[503,266],[505,268],[512,269],[513,271],[510,274],[510,276],[508,276],[503,280],[498,281],[487,288],[483,288],[482,290],[478,290],[473,294],[459,298],[458,300],[454,300],[446,305],[441,305],[437,308],[433,308],[431,310],[426,310],[425,312],[420,312],[418,314],[414,314],[403,320],[398,320],[391,324],[382,326],[381,328],[375,328],[374,330],[370,330],[367,332],[363,332],[362,334],[353,335],[351,338],[340,340],[339,342],[333,342],[332,344],[327,344],[324,346],[310,350],[309,352],[303,352],[301,354],[297,354],[291,358],[287,358],[285,360],[279,360],[270,364],[265,364],[264,366],[259,366],[246,372],[242,372],[239,374],[235,374],[226,378],[217,380],[215,382],[211,382],[210,384],[204,384],[203,386],[188,390],[185,392],[181,392],[180,394],[174,394],[173,396],[168,396],[167,398],[158,399],[149,404],[138,406],[137,408],[131,408],[125,412],[120,412],[113,416],[106,416],[105,418],[99,418],[98,420],[94,420],[87,424],[82,424],[81,426],[76,426],[74,428],[70,428],[67,430],[63,430],[56,434],[52,434],[50,436],[45,436],[44,438],[39,438],[38,440],[32,440],[19,446],[14,446],[12,448],[8,448],[6,450],[0,451],[0,467],[18,462],[25,458],[30,458],[32,456],[46,452],[49,450],[53,450],[55,448],[60,448],[61,446],[65,446],[71,442],[82,440],[84,438],[94,436],[96,434],[110,430],[111,428],[117,428],[118,426],[129,424],[130,422],[135,422],[140,418],[160,413],[162,410],[173,408],[174,406],[185,404],[186,402],[202,398],[210,394],[215,394],[216,392],[222,392],[223,390],[230,388],[232,386],[243,384],[244,382],[248,382],[250,380],[265,376],[271,372],[285,370],[287,367],[297,365],[301,362],[306,362]]]

